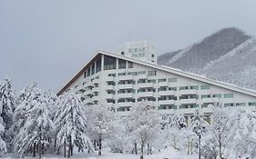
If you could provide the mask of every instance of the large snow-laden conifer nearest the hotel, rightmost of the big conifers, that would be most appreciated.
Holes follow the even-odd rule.
[[[68,157],[73,154],[73,147],[79,149],[87,147],[92,149],[92,144],[87,136],[86,110],[81,104],[80,97],[70,90],[61,97],[59,107],[55,115],[56,139],[59,146],[68,147]]]

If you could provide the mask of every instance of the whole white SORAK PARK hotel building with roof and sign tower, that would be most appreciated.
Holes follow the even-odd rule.
[[[121,115],[142,101],[160,114],[184,114],[188,122],[197,108],[210,117],[209,104],[256,110],[253,91],[157,65],[156,45],[147,41],[122,45],[115,53],[97,51],[57,94],[70,88],[83,104],[108,104]]]

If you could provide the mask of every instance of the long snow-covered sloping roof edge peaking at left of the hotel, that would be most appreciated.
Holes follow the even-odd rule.
[[[191,73],[187,73],[187,72],[181,71],[181,70],[176,69],[176,68],[172,68],[172,67],[168,67],[168,66],[164,66],[164,65],[157,65],[157,64],[150,63],[150,62],[145,62],[145,61],[140,61],[140,60],[137,60],[137,59],[125,56],[125,55],[118,55],[118,54],[111,53],[111,52],[108,52],[108,51],[103,51],[103,50],[98,50],[96,52],[96,54],[93,55],[93,57],[87,62],[87,64],[65,86],[63,86],[60,89],[60,91],[57,93],[57,95],[62,94],[63,92],[65,92],[67,87],[70,84],[73,84],[80,75],[83,75],[83,73],[87,70],[87,67],[89,65],[91,65],[91,63],[93,61],[95,61],[98,57],[100,57],[100,55],[109,55],[109,56],[113,56],[113,57],[116,57],[116,58],[119,58],[119,59],[128,60],[128,61],[136,63],[138,65],[146,65],[148,67],[152,67],[154,69],[159,69],[161,71],[168,72],[170,74],[184,76],[184,77],[187,77],[187,78],[190,78],[190,79],[193,79],[193,80],[197,80],[197,81],[200,81],[200,82],[203,82],[203,83],[206,83],[206,84],[212,84],[212,85],[220,86],[222,88],[226,88],[226,89],[229,89],[229,90],[232,90],[232,91],[235,91],[235,92],[239,92],[241,94],[248,94],[248,95],[256,97],[256,92],[254,92],[252,90],[249,90],[249,89],[238,87],[238,86],[233,85],[233,84],[223,83],[223,82],[212,80],[210,78],[206,78],[206,77],[203,77],[203,76],[200,76],[200,75],[194,75],[194,74],[191,74]]]

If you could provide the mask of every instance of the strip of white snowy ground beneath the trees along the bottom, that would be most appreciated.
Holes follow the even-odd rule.
[[[4,159],[12,159],[15,157],[5,157]],[[33,157],[25,157],[26,159],[32,159]],[[38,158],[36,156],[35,158]],[[45,154],[42,158],[60,159],[64,158],[62,155]],[[97,155],[97,152],[92,154],[76,153],[71,158],[75,159],[139,159],[139,155],[135,154],[113,154],[107,149],[104,149],[101,156]],[[163,150],[158,154],[144,155],[144,159],[197,159],[197,155],[180,154],[173,149]],[[34,159],[34,158],[33,158]]]

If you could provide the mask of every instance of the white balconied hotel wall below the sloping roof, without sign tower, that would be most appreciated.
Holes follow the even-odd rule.
[[[104,57],[101,61],[104,62]],[[234,106],[255,109],[255,96],[147,65],[133,64],[128,68],[127,61],[125,67],[118,69],[118,61],[117,68],[112,70],[104,70],[104,65],[101,65],[100,72],[86,78],[80,75],[68,89],[75,88],[85,105],[108,104],[109,109],[121,115],[128,114],[130,107],[142,101],[156,107],[159,114],[184,114],[188,122],[197,108],[209,116],[209,104],[222,104],[230,109]]]

